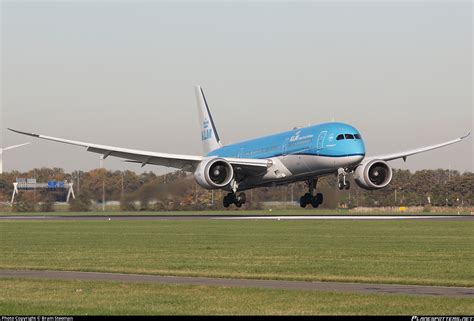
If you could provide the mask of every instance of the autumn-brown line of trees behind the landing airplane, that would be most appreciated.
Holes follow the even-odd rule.
[[[17,178],[35,178],[37,182],[50,180],[73,182],[76,200],[71,209],[88,210],[92,202],[119,201],[124,211],[167,211],[221,209],[224,191],[208,191],[194,182],[193,176],[183,171],[164,175],[153,172],[137,174],[133,171],[94,169],[66,173],[61,168],[37,168],[28,172],[12,171],[0,175],[0,201],[10,200],[13,182]],[[366,191],[352,182],[349,191],[337,189],[335,176],[323,177],[318,190],[324,194],[323,207],[379,207],[379,206],[474,206],[474,173],[444,169],[394,169],[388,187]],[[261,208],[263,202],[298,202],[306,193],[306,184],[262,187],[247,191],[246,208]],[[18,210],[48,211],[55,201],[64,201],[65,190],[21,191],[16,198]]]

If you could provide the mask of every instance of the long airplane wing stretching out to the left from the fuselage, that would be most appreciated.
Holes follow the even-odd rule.
[[[40,139],[51,140],[54,142],[75,145],[85,147],[87,151],[102,154],[103,159],[114,156],[124,158],[126,162],[139,163],[145,165],[160,165],[166,167],[179,168],[188,172],[192,172],[196,169],[197,165],[204,159],[202,156],[195,155],[180,155],[180,154],[168,154],[168,153],[155,153],[149,151],[127,149],[114,146],[91,144],[86,142],[68,140],[57,137],[50,137],[45,135],[33,134],[22,132],[8,128],[9,130],[22,134],[28,135]],[[244,174],[258,174],[266,171],[267,167],[271,165],[271,162],[266,159],[244,159],[244,158],[225,158],[232,165],[234,170]]]

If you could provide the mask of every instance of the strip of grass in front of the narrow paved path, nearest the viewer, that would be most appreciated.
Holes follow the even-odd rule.
[[[0,279],[1,315],[472,315],[474,300],[208,286]]]

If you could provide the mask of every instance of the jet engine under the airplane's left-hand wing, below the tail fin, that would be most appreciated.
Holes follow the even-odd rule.
[[[206,189],[223,188],[234,178],[232,165],[222,158],[205,159],[194,172],[196,182]]]

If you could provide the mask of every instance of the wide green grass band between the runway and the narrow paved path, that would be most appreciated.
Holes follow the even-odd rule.
[[[473,221],[0,221],[0,268],[473,286],[473,230]]]

